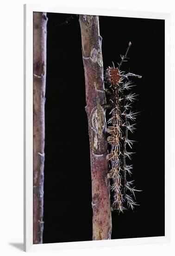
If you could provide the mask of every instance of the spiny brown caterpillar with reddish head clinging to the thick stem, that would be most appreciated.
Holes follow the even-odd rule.
[[[135,85],[129,80],[129,77],[141,78],[140,75],[133,73],[126,73],[120,70],[120,67],[124,61],[127,61],[129,46],[125,55],[121,56],[121,61],[118,63],[118,67],[108,67],[105,73],[105,88],[107,96],[106,108],[111,111],[111,116],[107,123],[107,132],[109,136],[107,141],[109,143],[109,154],[106,156],[109,160],[110,171],[108,178],[112,179],[111,190],[113,191],[113,203],[112,210],[116,209],[119,212],[123,212],[124,209],[133,209],[137,203],[134,201],[135,191],[140,191],[132,187],[133,181],[127,181],[127,174],[131,175],[132,165],[126,163],[126,159],[131,159],[133,152],[128,151],[128,147],[132,148],[133,142],[128,139],[128,131],[134,132],[135,124],[131,124],[131,121],[135,121],[138,114],[131,111],[131,103],[136,100],[137,94],[129,93],[129,90]]]

